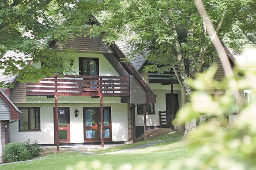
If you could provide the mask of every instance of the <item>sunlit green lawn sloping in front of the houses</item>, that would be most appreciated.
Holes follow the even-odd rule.
[[[160,137],[151,139],[150,141],[162,139],[168,139],[170,137],[178,137],[181,134],[164,134]],[[149,141],[147,141],[149,142]],[[52,170],[52,169],[66,169],[68,166],[75,166],[81,161],[87,163],[94,163],[95,160],[100,161],[103,164],[111,164],[113,169],[117,169],[120,165],[130,163],[134,166],[138,163],[162,163],[163,166],[167,166],[171,161],[175,161],[179,158],[190,156],[192,151],[188,149],[185,141],[175,139],[173,141],[167,141],[158,143],[157,145],[136,149],[126,153],[111,153],[111,151],[117,151],[124,148],[130,148],[132,146],[141,145],[146,143],[145,141],[132,145],[121,146],[117,148],[109,148],[101,151],[96,151],[99,155],[85,155],[78,152],[63,152],[57,154],[49,154],[41,156],[32,161],[12,163],[0,166],[1,170]]]

